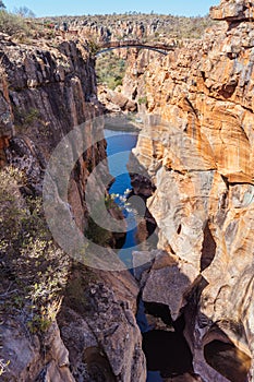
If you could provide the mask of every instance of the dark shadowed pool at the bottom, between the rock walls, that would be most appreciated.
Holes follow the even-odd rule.
[[[193,370],[192,351],[183,335],[184,315],[173,322],[168,306],[143,301],[141,303],[145,318],[141,317],[140,310],[137,322],[143,323],[141,329],[148,370],[147,382],[198,381]]]

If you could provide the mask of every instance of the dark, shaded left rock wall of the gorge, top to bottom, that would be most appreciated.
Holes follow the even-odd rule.
[[[101,115],[102,108],[96,97],[94,59],[85,41],[40,40],[33,45],[16,45],[1,35],[0,58],[1,170],[3,166],[12,165],[25,175],[26,184],[22,190],[13,186],[13,198],[26,208],[25,201],[20,201],[24,195],[41,196],[43,178],[52,150],[75,126],[83,122],[89,126],[90,120]],[[102,127],[97,123],[96,129],[101,131]],[[92,142],[93,129],[90,122],[87,142]],[[104,140],[89,145],[70,179],[69,214],[82,230],[87,224],[86,179],[96,164],[106,158],[105,148]],[[60,195],[58,198],[61,200]],[[8,205],[9,202],[4,203]],[[4,234],[1,226],[1,234],[2,230]],[[19,267],[17,259],[17,265],[12,267],[11,253],[5,253],[4,246],[0,250],[1,308],[4,308],[0,320],[0,374],[2,361],[9,363],[1,375],[3,381],[92,381],[90,375],[100,375],[102,380],[110,375],[108,381],[145,381],[141,335],[134,320],[138,288],[129,273],[108,275],[95,271],[93,274],[82,266],[74,270],[72,261],[65,259],[60,297],[51,308],[44,307],[51,309],[55,318],[48,325],[43,317],[36,319],[33,313],[31,317],[34,301],[22,301],[24,290],[19,296],[17,280],[25,272],[21,266],[26,264],[25,256],[29,262],[29,253],[22,252],[21,248],[23,265]],[[60,253],[56,250],[53,260]],[[46,252],[41,253],[43,258],[44,254],[46,256]],[[52,262],[47,277],[52,284],[58,283],[56,275],[63,264],[55,266]],[[33,271],[23,278],[26,276],[27,289],[29,283],[38,280],[40,285],[37,273],[34,278]],[[80,284],[76,284],[77,279]],[[37,288],[38,285],[36,282],[34,286]],[[38,331],[28,322],[35,327],[38,323],[46,326]]]

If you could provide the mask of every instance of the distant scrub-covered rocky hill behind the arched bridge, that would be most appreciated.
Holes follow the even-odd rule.
[[[173,37],[201,38],[205,28],[215,22],[207,16],[185,17],[164,14],[144,14],[129,12],[124,14],[58,16],[39,19],[44,23],[52,23],[62,28],[78,31],[84,36],[99,41],[112,39],[143,38],[164,39]]]

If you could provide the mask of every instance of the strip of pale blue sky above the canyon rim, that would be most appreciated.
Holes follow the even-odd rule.
[[[7,9],[27,7],[36,16],[46,15],[85,15],[124,13],[137,11],[144,13],[204,15],[209,7],[219,4],[219,0],[3,0]]]

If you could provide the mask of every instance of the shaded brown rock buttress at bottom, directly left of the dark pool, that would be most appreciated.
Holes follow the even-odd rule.
[[[128,273],[100,276],[100,283],[77,291],[85,293],[85,307],[73,309],[66,295],[59,315],[74,375],[77,381],[84,371],[85,381],[145,381],[145,357],[133,305],[138,288]],[[105,276],[110,287],[104,283]]]

